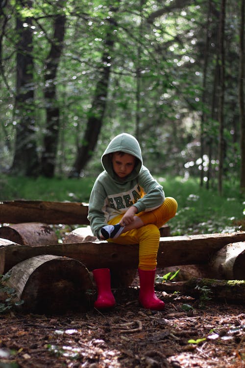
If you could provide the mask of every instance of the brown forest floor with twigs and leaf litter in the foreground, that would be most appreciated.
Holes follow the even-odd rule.
[[[114,290],[116,307],[102,313],[1,315],[0,368],[245,367],[243,305],[157,291],[166,308],[154,312],[138,292]]]

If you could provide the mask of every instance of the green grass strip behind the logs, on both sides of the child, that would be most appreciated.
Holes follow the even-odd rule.
[[[46,179],[39,177],[2,176],[0,201],[44,200],[85,202],[89,200],[95,178]],[[208,234],[245,230],[245,202],[238,184],[225,183],[223,196],[216,190],[200,188],[198,180],[190,178],[158,178],[165,195],[174,197],[178,211],[169,221],[171,235]]]

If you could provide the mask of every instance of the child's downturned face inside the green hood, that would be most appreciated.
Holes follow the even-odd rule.
[[[135,165],[135,157],[133,155],[124,154],[123,156],[118,153],[112,154],[112,166],[113,170],[119,178],[125,178],[131,174]]]

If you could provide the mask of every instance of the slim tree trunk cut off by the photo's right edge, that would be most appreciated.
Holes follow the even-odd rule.
[[[241,176],[240,189],[245,193],[245,102],[244,102],[244,78],[245,78],[245,45],[244,45],[244,24],[245,24],[245,0],[241,0],[241,26],[240,26],[240,68],[239,68],[239,107],[240,107],[240,147],[241,147]]]

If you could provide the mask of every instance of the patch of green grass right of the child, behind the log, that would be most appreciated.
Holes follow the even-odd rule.
[[[224,194],[200,188],[198,180],[158,178],[166,196],[178,202],[177,214],[169,221],[172,235],[225,233],[245,230],[244,199],[239,184],[224,184]]]

